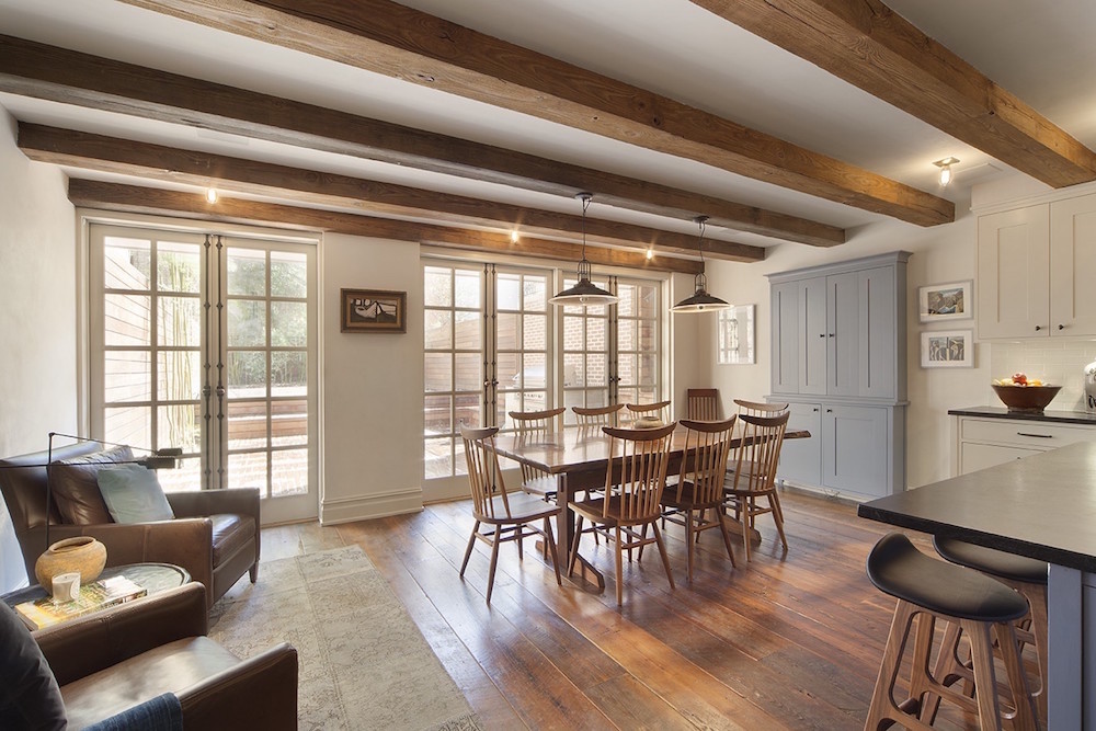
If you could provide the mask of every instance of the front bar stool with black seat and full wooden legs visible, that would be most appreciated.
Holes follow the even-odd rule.
[[[868,555],[867,573],[877,589],[898,599],[898,605],[864,722],[865,731],[878,731],[892,722],[906,729],[931,729],[931,715],[935,715],[938,706],[934,696],[978,713],[982,729],[1002,728],[1004,717],[998,694],[980,692],[981,688],[997,688],[994,635],[1014,700],[1012,728],[1025,731],[1037,728],[1035,705],[1020,665],[1015,631],[1016,620],[1028,610],[1023,596],[973,569],[925,556],[901,533],[879,539]],[[970,640],[974,698],[952,690],[929,673],[937,619],[958,625]],[[898,701],[894,688],[915,620],[910,696]]]

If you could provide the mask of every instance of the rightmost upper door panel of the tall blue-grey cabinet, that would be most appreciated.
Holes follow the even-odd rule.
[[[894,398],[898,381],[898,309],[894,267],[859,273],[858,395]]]

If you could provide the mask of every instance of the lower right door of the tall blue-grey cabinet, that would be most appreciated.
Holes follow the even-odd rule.
[[[865,495],[890,494],[887,409],[824,404],[822,486]]]

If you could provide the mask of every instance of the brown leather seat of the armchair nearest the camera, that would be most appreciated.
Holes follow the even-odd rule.
[[[163,693],[178,694],[239,663],[208,637],[162,644],[61,687],[69,728],[82,729]]]

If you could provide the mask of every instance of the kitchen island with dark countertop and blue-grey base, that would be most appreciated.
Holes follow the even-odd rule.
[[[1050,563],[1050,728],[1096,731],[1096,443],[880,498],[857,514]]]

